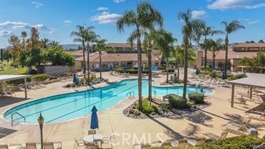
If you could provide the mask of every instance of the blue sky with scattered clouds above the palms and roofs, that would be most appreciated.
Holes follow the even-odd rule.
[[[140,1],[140,0],[138,0]],[[181,43],[179,12],[193,11],[208,26],[224,30],[222,21],[240,21],[246,30],[230,35],[231,42],[265,40],[265,0],[150,0],[163,14],[164,28]],[[39,29],[40,38],[74,43],[70,32],[77,25],[95,26],[95,32],[109,42],[126,42],[132,28],[119,33],[115,22],[126,10],[135,10],[136,0],[0,0],[0,47],[8,46],[8,37],[30,27]],[[222,35],[213,37],[223,37]]]

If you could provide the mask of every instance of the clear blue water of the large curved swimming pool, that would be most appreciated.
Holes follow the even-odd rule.
[[[39,112],[41,112],[46,123],[75,119],[89,115],[94,105],[97,110],[105,110],[114,106],[125,99],[129,91],[135,91],[135,95],[138,95],[137,79],[126,79],[104,88],[56,95],[24,103],[6,111],[4,117],[11,121],[12,113],[19,112],[26,117],[26,123],[37,123]],[[153,87],[153,95],[182,95],[182,92],[183,87]],[[188,87],[187,92],[196,92],[196,89]],[[204,92],[210,94],[213,91],[204,90]],[[145,79],[142,80],[142,95],[148,95],[148,81]],[[23,122],[19,115],[14,115],[13,119]]]

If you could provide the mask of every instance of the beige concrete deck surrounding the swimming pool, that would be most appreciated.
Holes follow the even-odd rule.
[[[99,73],[97,73],[98,75]],[[123,78],[110,76],[108,72],[103,72],[103,77],[110,79],[110,81],[119,81]],[[159,84],[165,80],[166,76],[161,78],[154,78]],[[130,77],[137,78],[137,77]],[[147,78],[147,77],[146,77]],[[127,78],[124,78],[127,79]],[[23,92],[17,92],[15,97],[5,98],[0,100],[0,127],[17,130],[6,137],[0,139],[0,143],[26,143],[26,142],[40,142],[39,126],[28,124],[17,124],[11,126],[10,121],[3,119],[3,113],[9,108],[17,106],[21,103],[26,103],[35,99],[49,97],[51,95],[59,95],[67,92],[75,92],[73,89],[63,88],[68,82],[56,82],[46,85],[45,88],[37,90],[30,90],[28,97],[30,99],[23,99]],[[107,83],[97,84],[94,87],[106,86]],[[242,88],[235,88],[242,90]],[[87,90],[87,88],[77,88],[77,90]],[[157,141],[157,135],[163,139],[182,138],[182,137],[198,137],[204,132],[212,132],[220,135],[222,132],[221,125],[228,121],[242,121],[244,112],[257,106],[256,103],[247,101],[248,108],[235,104],[235,108],[230,108],[230,88],[215,88],[215,93],[208,95],[207,101],[212,103],[211,106],[197,111],[188,117],[182,119],[131,119],[123,115],[124,108],[130,106],[136,99],[124,99],[117,103],[117,105],[108,110],[99,111],[99,135],[110,135],[115,132],[115,142],[119,143],[114,148],[132,148],[133,139],[136,137],[141,139],[142,135],[146,137],[146,141]],[[45,117],[44,117],[45,119]],[[259,128],[259,135],[265,134],[265,123],[261,121],[251,121],[251,125]],[[90,129],[90,116],[82,117],[71,121],[61,123],[46,124],[43,127],[44,141],[62,141],[63,148],[73,148],[74,139],[81,140],[88,135]],[[160,134],[161,133],[161,134]],[[123,137],[130,139],[122,139]],[[233,134],[228,133],[228,137]],[[104,146],[103,146],[104,147]]]

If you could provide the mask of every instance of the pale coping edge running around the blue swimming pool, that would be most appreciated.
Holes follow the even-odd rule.
[[[106,86],[101,86],[99,88],[92,88],[92,89],[89,89],[89,90],[97,90],[97,89],[100,89],[100,88],[107,88],[109,86],[112,86],[112,85],[115,85],[117,83],[120,83],[121,81],[127,81],[127,80],[137,80],[137,79],[121,79],[120,81],[116,81],[115,83],[112,83],[112,84],[108,84]],[[142,80],[148,80],[148,79],[142,79]],[[154,81],[154,80],[153,80]],[[188,85],[190,86],[190,85]],[[154,88],[178,88],[178,87],[183,87],[183,86],[153,86]],[[212,90],[212,89],[209,89],[209,88],[206,88],[207,90],[210,90],[211,92],[208,93],[207,95],[212,95],[215,91]],[[81,91],[78,91],[78,92],[87,92],[88,90],[81,90]],[[63,93],[63,94],[59,94],[59,95],[52,95],[52,96],[48,96],[48,97],[57,97],[57,96],[61,96],[61,95],[70,95],[70,94],[75,94],[76,92],[68,92],[68,93]],[[8,112],[9,110],[11,110],[12,108],[16,108],[18,106],[22,106],[22,105],[25,105],[25,104],[28,104],[28,103],[32,103],[32,102],[35,102],[35,101],[39,101],[39,100],[42,100],[42,99],[46,99],[48,97],[43,97],[43,98],[40,98],[40,99],[34,99],[32,101],[28,101],[28,102],[25,102],[25,103],[21,103],[17,106],[12,106],[11,108],[7,108],[6,110],[4,110],[3,112],[1,112],[1,115],[0,115],[0,119],[3,119],[3,121],[6,121],[6,122],[9,122],[9,123],[12,123],[12,121],[6,119],[4,117],[4,115],[6,114],[6,112]],[[125,98],[127,99],[127,98]],[[121,101],[124,101],[124,99],[121,99],[120,101],[118,101],[117,103],[115,103],[115,105],[113,106],[110,106],[109,108],[106,108],[104,110],[109,110],[111,108],[114,108],[115,106],[117,106],[117,104],[121,103]],[[101,110],[99,112],[102,112],[104,110]],[[63,121],[55,121],[55,122],[49,122],[49,123],[44,123],[45,125],[49,125],[49,124],[56,124],[56,123],[64,123],[64,122],[68,122],[68,121],[74,121],[74,120],[77,120],[77,119],[83,119],[83,118],[86,118],[86,117],[89,117],[91,114],[88,114],[88,115],[85,115],[85,116],[81,116],[81,117],[77,117],[77,118],[72,118],[72,119],[68,119],[68,120],[63,120]],[[19,124],[22,124],[22,125],[39,125],[39,123],[24,123],[24,122],[21,122],[19,121],[18,122]]]

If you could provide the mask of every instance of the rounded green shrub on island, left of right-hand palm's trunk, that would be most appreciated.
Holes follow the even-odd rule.
[[[173,108],[188,108],[187,100],[177,95],[169,96],[168,101]]]

